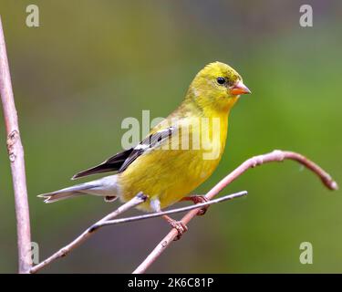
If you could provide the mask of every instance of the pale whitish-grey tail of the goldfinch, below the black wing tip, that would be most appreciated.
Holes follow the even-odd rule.
[[[119,193],[117,180],[116,175],[110,175],[96,181],[70,186],[56,192],[39,194],[38,197],[44,198],[45,203],[54,203],[83,194],[94,194],[105,197],[105,201],[112,202]]]

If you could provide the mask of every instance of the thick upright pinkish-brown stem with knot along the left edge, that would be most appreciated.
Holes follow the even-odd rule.
[[[18,272],[27,273],[32,266],[30,218],[27,202],[24,149],[21,143],[15,99],[5,48],[5,36],[0,17],[0,94],[4,110],[7,150],[11,162],[16,201],[16,234]]]

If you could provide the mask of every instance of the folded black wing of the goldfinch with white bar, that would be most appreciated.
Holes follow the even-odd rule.
[[[140,155],[161,146],[161,143],[168,140],[175,130],[175,127],[170,127],[164,130],[156,131],[155,133],[150,134],[150,136],[141,141],[140,144],[138,144],[136,147],[119,152],[110,157],[107,161],[102,162],[95,167],[89,168],[86,171],[78,172],[72,177],[72,179],[75,180],[79,177],[101,172],[123,172]]]

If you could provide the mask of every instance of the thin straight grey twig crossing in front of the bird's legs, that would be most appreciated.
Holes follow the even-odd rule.
[[[215,199],[215,200],[207,201],[204,203],[196,203],[196,204],[192,204],[190,206],[177,208],[177,209],[171,209],[171,210],[164,211],[164,212],[157,212],[157,213],[152,213],[152,214],[143,214],[143,215],[139,215],[139,216],[120,218],[120,219],[116,219],[116,220],[109,220],[109,221],[105,221],[101,224],[95,224],[94,228],[99,228],[99,227],[108,226],[108,225],[129,223],[129,222],[133,222],[133,221],[140,221],[140,220],[145,220],[145,219],[150,219],[150,218],[155,218],[155,217],[161,217],[162,215],[167,215],[167,214],[182,213],[182,212],[190,211],[193,209],[199,209],[199,208],[202,208],[204,206],[209,206],[213,203],[221,203],[224,201],[233,200],[234,198],[242,197],[246,194],[247,194],[246,191],[239,192],[239,193],[232,193],[232,194],[224,195],[223,197]]]

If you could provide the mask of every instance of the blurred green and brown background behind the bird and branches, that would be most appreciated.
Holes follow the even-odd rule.
[[[2,0],[40,259],[118,203],[88,196],[45,204],[36,195],[120,151],[121,120],[140,120],[141,110],[165,117],[215,60],[236,68],[253,95],[233,109],[223,161],[197,193],[274,149],[307,155],[341,183],[342,3],[305,3],[313,6],[313,27],[299,26],[300,1]],[[29,4],[40,9],[39,27],[26,26]],[[16,222],[0,128],[0,272],[11,273]],[[327,191],[295,162],[251,170],[223,193],[241,190],[249,195],[193,220],[149,272],[342,272],[339,191]],[[130,273],[169,229],[161,219],[107,227],[44,272]],[[313,265],[299,262],[307,241]]]

